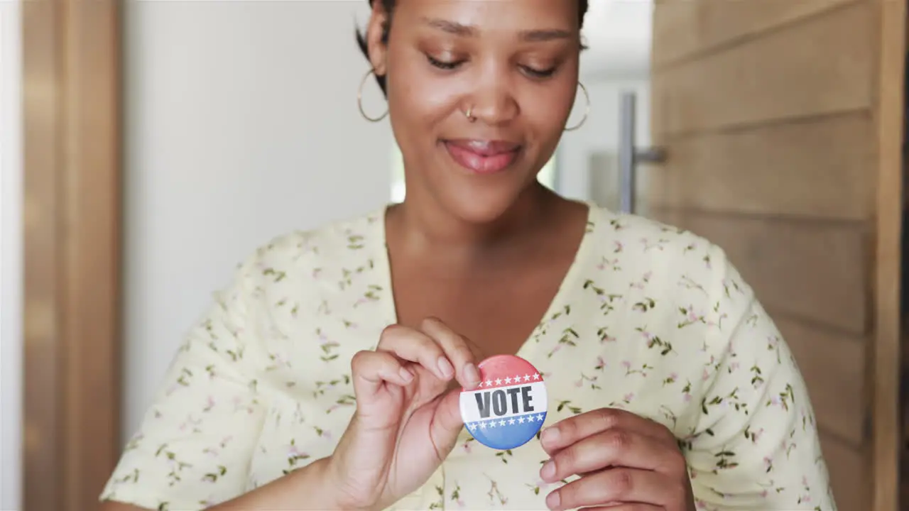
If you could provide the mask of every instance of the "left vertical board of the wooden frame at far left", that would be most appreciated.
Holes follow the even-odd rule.
[[[23,117],[25,165],[25,303],[23,504],[25,509],[61,509],[63,495],[46,488],[64,484],[65,472],[57,453],[63,438],[55,432],[64,411],[60,377],[65,354],[60,334],[61,293],[58,253],[62,233],[57,222],[57,168],[60,144],[57,127],[61,98],[55,83],[60,76],[56,25],[59,12],[49,2],[27,2],[23,15]],[[51,148],[51,150],[48,150]]]

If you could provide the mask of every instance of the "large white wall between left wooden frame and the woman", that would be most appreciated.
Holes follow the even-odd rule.
[[[210,293],[257,245],[390,196],[356,107],[366,2],[131,2],[125,14],[125,434]],[[364,12],[365,11],[365,12]],[[371,115],[385,108],[367,85]]]

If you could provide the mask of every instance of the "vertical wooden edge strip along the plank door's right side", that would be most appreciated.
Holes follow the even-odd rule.
[[[903,223],[905,0],[876,0],[877,239],[874,265],[873,400],[874,510],[899,508],[900,271]]]

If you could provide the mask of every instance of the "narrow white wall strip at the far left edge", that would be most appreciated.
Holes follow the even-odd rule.
[[[0,509],[18,509],[22,463],[22,83],[18,2],[0,2]]]

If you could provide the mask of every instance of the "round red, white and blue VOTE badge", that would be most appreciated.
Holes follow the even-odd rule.
[[[523,446],[546,419],[543,375],[523,358],[499,355],[485,359],[480,385],[461,391],[464,426],[477,442],[494,449]]]

